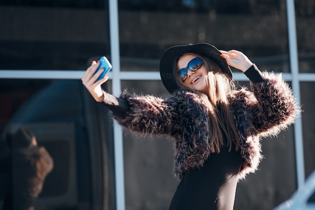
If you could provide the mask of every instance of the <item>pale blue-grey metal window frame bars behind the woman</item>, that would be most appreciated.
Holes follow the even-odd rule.
[[[315,74],[301,74],[298,69],[298,51],[296,40],[294,0],[286,0],[287,24],[289,38],[289,55],[291,73],[284,73],[283,78],[292,82],[292,90],[300,104],[300,82],[315,82]],[[113,70],[109,74],[112,80],[113,95],[118,96],[121,89],[121,80],[160,80],[159,72],[120,72],[119,30],[118,30],[118,3],[117,0],[109,1],[110,15],[110,45]],[[45,71],[45,70],[0,70],[0,79],[81,79],[85,71]],[[234,73],[233,78],[238,81],[247,81],[242,73]],[[304,152],[302,136],[302,120],[297,118],[294,124],[295,160],[297,187],[304,183]],[[125,210],[124,189],[124,163],[123,163],[123,136],[121,127],[114,125],[115,147],[115,180],[116,180],[116,208]]]

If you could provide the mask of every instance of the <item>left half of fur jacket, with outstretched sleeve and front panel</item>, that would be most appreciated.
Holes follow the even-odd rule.
[[[168,134],[174,141],[174,174],[182,178],[201,166],[210,154],[209,121],[205,101],[197,94],[179,90],[167,99],[124,92],[130,110],[119,124],[140,134]]]

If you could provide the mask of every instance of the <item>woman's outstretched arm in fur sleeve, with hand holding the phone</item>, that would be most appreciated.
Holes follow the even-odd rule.
[[[113,112],[114,118],[120,125],[142,134],[165,134],[170,133],[170,130],[173,132],[178,130],[175,128],[176,123],[173,123],[178,114],[168,99],[163,100],[154,96],[135,95],[128,92],[123,92],[117,98],[101,88],[108,77],[96,81],[104,71],[101,69],[95,73],[98,66],[99,62],[93,61],[88,67],[82,78],[83,85],[96,102],[102,103]]]

